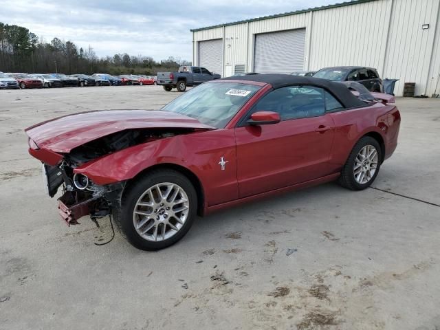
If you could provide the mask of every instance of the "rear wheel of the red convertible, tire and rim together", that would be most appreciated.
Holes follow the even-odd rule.
[[[365,159],[364,155],[368,154],[372,156]],[[351,190],[368,188],[377,177],[381,162],[382,149],[377,140],[370,136],[362,137],[353,146],[349,158],[342,168],[339,184]],[[364,176],[362,176],[362,173],[364,173]]]

